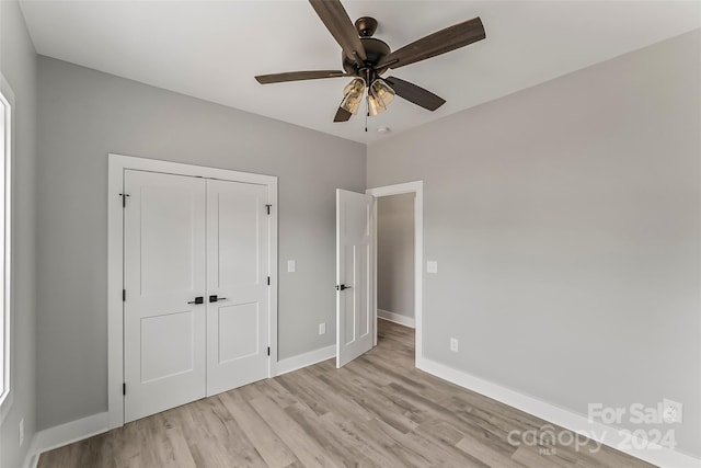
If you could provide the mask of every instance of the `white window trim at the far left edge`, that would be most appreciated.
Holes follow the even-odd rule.
[[[10,83],[4,79],[2,73],[0,73],[0,101],[2,101],[3,106],[5,107],[4,116],[2,125],[7,133],[4,133],[4,161],[0,161],[0,163],[4,162],[4,219],[3,226],[0,226],[0,229],[4,230],[4,264],[0,264],[0,267],[4,269],[4,274],[2,278],[4,279],[4,284],[0,284],[3,290],[4,303],[0,306],[2,310],[0,311],[0,320],[2,320],[0,327],[0,333],[3,334],[2,340],[0,340],[0,345],[4,349],[2,350],[2,359],[0,363],[0,379],[2,379],[2,384],[4,390],[0,395],[0,423],[4,420],[4,418],[10,412],[12,408],[12,402],[14,400],[14,368],[12,365],[12,315],[13,315],[13,303],[12,298],[12,277],[14,276],[12,273],[12,228],[13,228],[13,218],[14,218],[14,209],[12,209],[12,170],[14,160],[14,125],[13,125],[13,113],[14,113],[14,92],[12,88],[10,88]],[[2,246],[0,246],[2,248]]]

